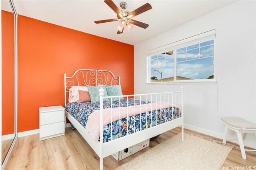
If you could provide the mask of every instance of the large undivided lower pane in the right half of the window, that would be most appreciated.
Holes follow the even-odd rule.
[[[177,80],[207,79],[213,77],[213,57],[177,63]]]

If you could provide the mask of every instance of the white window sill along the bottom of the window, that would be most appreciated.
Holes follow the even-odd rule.
[[[160,85],[160,84],[216,84],[217,80],[193,80],[193,81],[176,81],[176,82],[150,82],[146,85]]]

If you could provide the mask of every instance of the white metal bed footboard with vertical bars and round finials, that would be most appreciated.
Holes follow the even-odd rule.
[[[124,95],[124,96],[103,96],[104,90],[100,88],[100,169],[103,169],[103,158],[109,156],[115,152],[118,152],[122,149],[135,145],[136,143],[140,143],[146,139],[150,139],[156,135],[169,131],[178,126],[182,126],[182,139],[184,141],[184,120],[183,120],[183,87],[178,92],[167,92],[167,93],[152,93],[152,94],[139,94],[139,95]],[[103,109],[103,99],[108,98],[111,102],[111,107],[108,109],[110,112],[110,128],[111,128],[111,138],[110,141],[104,143],[104,136],[103,136],[103,117],[104,117],[104,110]],[[117,108],[112,108],[113,98],[119,98],[119,104],[121,103],[121,99],[126,99],[127,106],[126,109],[126,117],[121,116],[121,109],[120,106],[118,107],[119,111],[119,137],[118,139],[113,139],[112,135],[112,117],[114,116],[114,112],[116,112]],[[128,99],[133,99],[134,104],[133,106],[128,106]],[[135,110],[138,110],[138,107],[135,106],[135,100],[139,100],[139,114],[135,113]],[[142,99],[148,102],[149,104],[144,104],[142,106],[141,102]],[[158,102],[160,101],[160,102]],[[156,105],[156,106],[154,106]],[[133,117],[134,117],[134,126],[133,126],[133,133],[129,133],[129,123],[128,117],[132,117],[130,115],[132,107],[133,110]],[[146,108],[145,108],[146,107]],[[123,108],[124,109],[124,108]],[[122,111],[123,111],[122,109]],[[112,115],[113,114],[113,115]],[[123,114],[123,113],[122,113]],[[140,124],[139,131],[136,131],[135,128],[135,116],[139,115]],[[142,116],[144,115],[144,117]],[[153,117],[155,119],[153,119]],[[126,135],[121,136],[121,119],[126,118]],[[146,126],[142,127],[142,119],[146,119]],[[160,121],[159,121],[160,120]],[[150,122],[150,123],[149,123]],[[125,122],[123,121],[124,125]],[[106,126],[106,125],[105,125]],[[131,131],[131,129],[130,129]],[[122,145],[120,145],[122,144]]]

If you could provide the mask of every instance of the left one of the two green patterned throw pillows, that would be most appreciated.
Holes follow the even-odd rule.
[[[100,102],[100,96],[99,96],[100,88],[102,88],[104,90],[104,92],[103,92],[104,95],[103,96],[104,97],[108,96],[105,86],[87,86],[87,88],[88,88],[89,95],[90,95],[92,103]],[[108,99],[103,99],[103,102],[108,102]]]

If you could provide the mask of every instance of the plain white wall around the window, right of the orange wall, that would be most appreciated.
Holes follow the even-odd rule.
[[[185,127],[219,138],[224,133],[220,117],[238,116],[256,123],[255,6],[255,1],[234,2],[134,45],[135,94],[183,86]],[[146,85],[146,51],[212,29],[216,29],[216,84]],[[245,145],[256,148],[254,134],[244,139]]]

